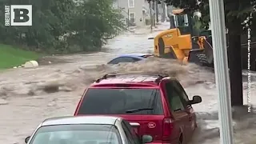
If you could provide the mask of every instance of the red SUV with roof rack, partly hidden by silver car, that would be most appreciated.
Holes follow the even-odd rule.
[[[83,94],[74,115],[113,115],[125,118],[139,135],[150,134],[152,143],[184,144],[190,141],[196,124],[182,85],[159,74],[106,74]]]

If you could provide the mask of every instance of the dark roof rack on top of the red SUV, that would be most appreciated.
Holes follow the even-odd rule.
[[[160,80],[162,78],[166,78],[166,77],[169,77],[169,75],[166,75],[166,74],[154,74],[154,73],[116,73],[116,74],[105,74],[102,76],[102,78],[98,78],[95,82],[101,82],[102,79],[107,79],[107,78],[114,78],[114,77],[117,77],[117,76],[120,76],[120,75],[145,75],[145,76],[155,76],[155,77],[158,77],[156,78],[156,80],[154,80],[154,82],[160,82]]]

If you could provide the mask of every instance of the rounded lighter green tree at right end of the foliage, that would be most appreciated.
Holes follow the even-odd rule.
[[[77,33],[71,34],[67,41],[82,46],[83,50],[97,50],[106,38],[122,30],[122,15],[120,11],[112,9],[111,2],[90,0],[81,3],[71,20],[71,27]]]

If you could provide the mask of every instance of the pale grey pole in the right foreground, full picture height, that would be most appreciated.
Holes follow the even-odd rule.
[[[234,144],[223,0],[210,0],[210,24],[214,47],[214,71],[218,90],[218,119],[221,144]]]

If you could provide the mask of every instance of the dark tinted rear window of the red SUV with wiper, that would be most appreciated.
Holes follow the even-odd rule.
[[[91,88],[86,91],[78,114],[162,115],[160,90]]]

